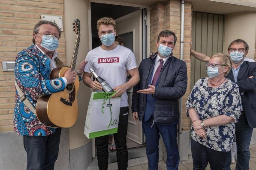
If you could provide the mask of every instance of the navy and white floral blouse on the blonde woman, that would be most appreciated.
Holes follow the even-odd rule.
[[[233,117],[237,122],[241,116],[241,97],[238,85],[227,79],[223,85],[211,88],[208,86],[208,80],[209,77],[196,82],[186,103],[187,110],[193,107],[200,120],[224,114]],[[188,111],[187,116],[189,117]],[[205,127],[206,139],[196,135],[192,126],[191,135],[193,140],[199,144],[217,151],[228,152],[233,143],[235,122]]]

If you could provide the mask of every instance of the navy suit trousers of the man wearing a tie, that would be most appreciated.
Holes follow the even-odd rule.
[[[177,124],[165,125],[155,123],[153,126],[153,117],[148,121],[142,122],[142,128],[146,136],[146,153],[148,157],[148,170],[158,170],[159,158],[159,138],[160,134],[163,137],[163,142],[166,147],[167,170],[178,170],[180,155],[177,144]],[[151,127],[152,126],[152,127]]]

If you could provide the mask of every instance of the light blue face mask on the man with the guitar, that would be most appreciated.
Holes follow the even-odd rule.
[[[40,35],[42,36],[41,46],[49,51],[54,51],[59,46],[59,40],[53,35]]]

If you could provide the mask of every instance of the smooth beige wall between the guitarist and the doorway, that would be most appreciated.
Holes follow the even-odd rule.
[[[85,59],[89,51],[88,38],[88,0],[64,0],[64,24],[66,37],[66,64],[72,60],[76,35],[72,23],[75,19],[81,22],[81,41],[78,49],[77,67]],[[90,88],[80,82],[78,90],[78,119],[74,126],[69,128],[69,149],[81,147],[89,140],[84,135],[84,122],[90,98]]]

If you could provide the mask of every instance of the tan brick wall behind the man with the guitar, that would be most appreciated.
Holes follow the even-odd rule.
[[[14,76],[3,71],[3,60],[15,60],[17,53],[32,44],[32,32],[41,15],[63,16],[63,0],[0,0],[0,132],[13,129]],[[64,22],[63,22],[64,23]],[[64,32],[57,51],[65,58]]]

